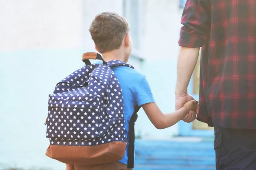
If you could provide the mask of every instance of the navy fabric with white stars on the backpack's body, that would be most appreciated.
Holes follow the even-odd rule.
[[[57,86],[49,95],[46,136],[52,137],[51,144],[94,146],[124,140],[122,89],[107,65],[83,67]]]

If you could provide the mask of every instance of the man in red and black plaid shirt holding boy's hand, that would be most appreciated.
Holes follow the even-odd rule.
[[[187,87],[202,47],[197,119],[214,127],[216,169],[255,170],[256,0],[187,0],[181,23],[175,109],[193,99]]]

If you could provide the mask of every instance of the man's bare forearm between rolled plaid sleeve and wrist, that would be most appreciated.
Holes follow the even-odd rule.
[[[190,78],[198,60],[199,48],[181,47],[177,61],[175,94],[186,94]]]

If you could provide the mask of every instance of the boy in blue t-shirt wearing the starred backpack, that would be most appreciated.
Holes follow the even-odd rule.
[[[128,62],[132,51],[132,41],[127,21],[116,13],[98,14],[90,26],[90,34],[95,42],[96,50],[108,62],[120,60]],[[170,127],[183,119],[189,111],[199,106],[193,100],[173,113],[163,114],[154,101],[145,75],[129,67],[113,67],[121,88],[124,101],[125,135],[128,136],[128,125],[136,105],[142,106],[150,121],[157,129]],[[127,167],[128,147],[124,157],[117,162],[98,165],[67,165],[67,170],[132,170]]]

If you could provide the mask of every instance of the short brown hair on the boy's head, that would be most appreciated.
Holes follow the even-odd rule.
[[[89,31],[99,52],[104,53],[119,49],[130,28],[125,18],[119,14],[103,12],[96,15]]]

